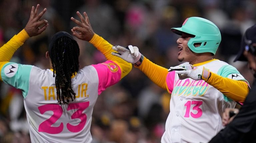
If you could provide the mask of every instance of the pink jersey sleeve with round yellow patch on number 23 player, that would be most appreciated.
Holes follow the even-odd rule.
[[[98,95],[106,90],[107,87],[116,84],[121,79],[121,69],[118,64],[113,61],[108,60],[104,63],[92,66],[96,69],[99,77]]]

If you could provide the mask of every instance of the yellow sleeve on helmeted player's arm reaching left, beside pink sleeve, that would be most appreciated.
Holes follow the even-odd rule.
[[[161,67],[157,64],[154,64],[146,57],[144,57],[144,60],[142,61],[141,65],[136,68],[140,69],[156,85],[165,90],[167,89],[166,77],[168,74],[168,69]]]

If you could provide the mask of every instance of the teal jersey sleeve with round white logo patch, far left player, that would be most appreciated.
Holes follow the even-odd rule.
[[[32,67],[32,65],[22,65],[13,62],[6,63],[1,69],[2,80],[4,83],[22,90],[22,95],[26,98]]]

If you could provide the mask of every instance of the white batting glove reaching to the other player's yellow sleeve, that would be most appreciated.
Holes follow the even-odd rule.
[[[135,64],[140,60],[141,53],[139,52],[139,48],[129,45],[128,47],[122,47],[119,45],[113,46],[113,50],[117,52],[112,52],[112,55],[118,56],[123,60]]]

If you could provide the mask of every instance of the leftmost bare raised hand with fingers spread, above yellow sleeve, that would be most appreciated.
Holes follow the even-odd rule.
[[[40,20],[40,18],[46,12],[46,8],[44,8],[44,10],[37,15],[38,10],[39,4],[37,4],[36,9],[34,6],[32,6],[30,18],[28,20],[27,25],[24,28],[30,37],[41,34],[48,27],[47,20]]]

